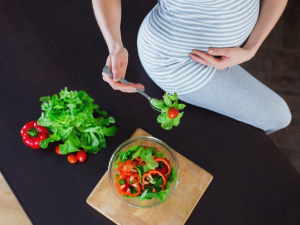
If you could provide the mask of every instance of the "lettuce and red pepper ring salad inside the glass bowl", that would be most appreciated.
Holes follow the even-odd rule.
[[[170,161],[154,147],[135,145],[120,154],[115,166],[119,171],[115,181],[118,192],[140,201],[152,198],[163,201],[177,179]]]

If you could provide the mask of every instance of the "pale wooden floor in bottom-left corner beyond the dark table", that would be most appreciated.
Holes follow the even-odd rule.
[[[0,225],[27,224],[31,222],[0,173]]]

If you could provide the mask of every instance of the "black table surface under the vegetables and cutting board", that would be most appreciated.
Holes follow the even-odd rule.
[[[122,2],[126,78],[160,98],[136,48],[139,26],[156,1]],[[263,131],[191,105],[180,126],[165,131],[144,97],[113,91],[102,80],[108,50],[91,1],[3,0],[0,18],[0,167],[34,224],[113,224],[86,199],[113,151],[138,127],[214,176],[186,224],[300,224],[300,175]],[[118,127],[106,149],[75,165],[55,153],[55,144],[32,150],[19,134],[39,118],[39,97],[65,86],[87,91]]]

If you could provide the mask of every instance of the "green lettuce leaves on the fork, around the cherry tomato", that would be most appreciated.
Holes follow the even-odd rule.
[[[170,119],[167,116],[167,113],[171,107],[174,107],[178,110],[182,110],[185,107],[185,104],[178,103],[177,93],[174,93],[172,96],[166,92],[162,100],[151,99],[150,103],[154,108],[161,111],[161,114],[157,117],[157,122],[161,123],[161,127],[163,129],[170,130],[173,126],[177,127],[180,124],[180,119],[183,116],[183,112],[179,113],[174,119]]]

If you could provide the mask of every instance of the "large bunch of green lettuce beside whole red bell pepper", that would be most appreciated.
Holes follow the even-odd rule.
[[[68,154],[83,148],[86,152],[96,154],[106,147],[105,137],[114,136],[117,132],[115,119],[107,117],[94,104],[94,99],[84,91],[68,91],[67,88],[57,94],[40,98],[42,101],[41,117],[38,124],[50,130],[50,137],[43,140],[41,148],[47,148],[49,142],[62,140],[60,153]],[[99,117],[94,117],[94,112]]]

